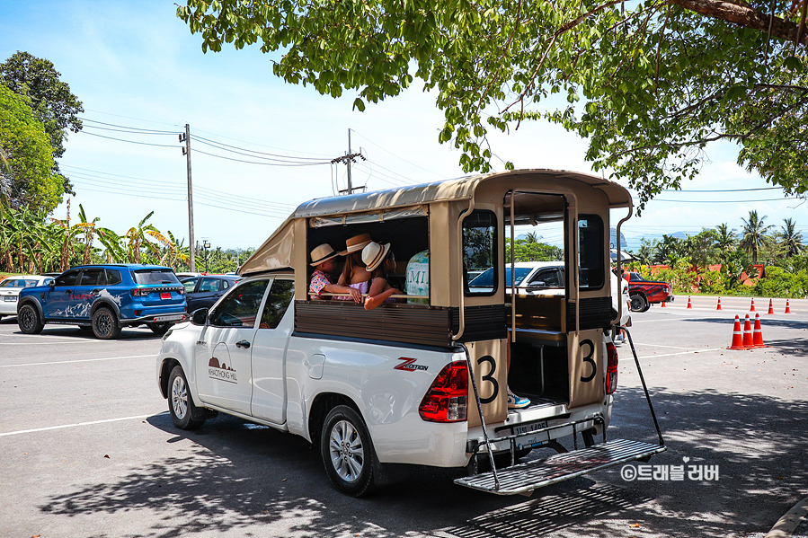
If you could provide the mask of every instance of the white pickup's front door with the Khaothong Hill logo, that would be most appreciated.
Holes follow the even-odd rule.
[[[250,414],[253,340],[267,285],[255,280],[235,287],[209,313],[194,357],[201,401]]]

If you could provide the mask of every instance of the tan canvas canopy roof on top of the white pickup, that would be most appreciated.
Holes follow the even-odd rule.
[[[332,216],[342,217],[347,221],[351,215],[372,211],[391,213],[392,210],[401,207],[418,207],[438,201],[465,200],[474,197],[477,186],[483,181],[507,181],[509,177],[520,175],[533,175],[541,182],[549,181],[551,184],[558,185],[577,181],[582,183],[581,187],[589,185],[592,189],[603,191],[608,197],[610,208],[632,206],[628,190],[614,181],[604,180],[591,174],[545,169],[494,172],[397,189],[317,198],[300,204],[278,230],[271,234],[270,238],[244,262],[239,274],[248,275],[292,267],[296,230],[298,230],[298,234],[305,230],[305,227],[299,228],[295,225],[298,219]]]

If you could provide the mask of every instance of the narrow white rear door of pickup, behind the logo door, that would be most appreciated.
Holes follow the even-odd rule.
[[[293,277],[276,277],[253,340],[253,417],[286,422],[286,347],[292,332]]]

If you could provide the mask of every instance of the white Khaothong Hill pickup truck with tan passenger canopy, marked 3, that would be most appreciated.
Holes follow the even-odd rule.
[[[620,313],[612,319],[604,245],[609,207],[630,204],[615,183],[553,171],[307,202],[244,263],[243,280],[165,334],[156,376],[173,423],[199,428],[225,412],[305,437],[353,496],[412,464],[466,466],[459,485],[505,495],[657,454],[661,434],[606,440]],[[523,294],[496,269],[505,230],[542,215],[562,215],[575,246],[563,295]],[[403,260],[429,251],[428,295],[370,311],[309,297],[307,252],[358,233]],[[493,285],[469,287],[465,269],[484,263]],[[508,409],[509,381],[528,407]],[[536,447],[558,454],[514,465]],[[481,469],[494,454],[511,466]]]

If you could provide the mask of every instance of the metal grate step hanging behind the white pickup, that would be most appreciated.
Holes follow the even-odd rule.
[[[455,483],[466,486],[466,488],[481,489],[497,495],[516,495],[555,484],[555,482],[569,480],[588,472],[659,454],[665,450],[664,445],[614,439],[590,446],[590,448],[551,455],[545,460],[498,469],[496,473],[499,487],[495,484],[493,472],[458,478]]]

